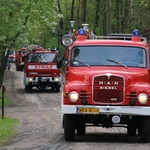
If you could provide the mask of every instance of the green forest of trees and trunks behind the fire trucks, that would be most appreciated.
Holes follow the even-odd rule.
[[[0,17],[1,52],[30,44],[63,52],[70,21],[75,29],[89,24],[96,35],[138,29],[150,39],[150,0],[0,0]]]

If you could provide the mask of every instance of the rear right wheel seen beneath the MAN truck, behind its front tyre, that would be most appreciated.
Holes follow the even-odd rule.
[[[128,126],[127,126],[127,133],[130,136],[135,136],[136,135],[136,125],[134,121],[129,121]]]

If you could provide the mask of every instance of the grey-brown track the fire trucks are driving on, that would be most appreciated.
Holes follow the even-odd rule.
[[[16,135],[0,150],[149,150],[150,144],[140,143],[137,136],[129,137],[126,128],[87,127],[84,136],[75,136],[73,142],[63,137],[61,121],[61,92],[33,90],[26,93],[23,72],[5,71],[4,85],[12,104],[5,115],[20,120]]]

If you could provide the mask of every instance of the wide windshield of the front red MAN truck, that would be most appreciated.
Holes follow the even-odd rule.
[[[130,46],[80,46],[71,54],[72,66],[146,67],[146,52]]]

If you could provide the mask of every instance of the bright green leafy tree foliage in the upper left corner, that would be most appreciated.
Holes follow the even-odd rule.
[[[38,33],[57,25],[60,18],[53,0],[1,0],[0,16],[0,44],[18,48],[38,41]]]

